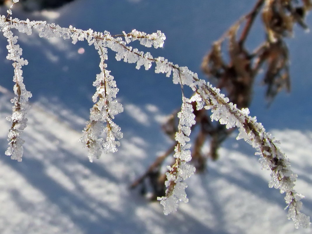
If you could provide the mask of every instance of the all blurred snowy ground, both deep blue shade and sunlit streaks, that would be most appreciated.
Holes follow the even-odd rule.
[[[50,17],[66,27],[89,27],[112,33],[165,32],[163,49],[153,50],[198,72],[202,56],[234,19],[253,5],[229,1],[106,1],[77,0],[56,12],[18,17]],[[310,24],[312,22],[310,20]],[[303,212],[312,216],[312,128],[310,111],[311,34],[298,30],[289,40],[293,89],[281,93],[266,109],[263,90],[255,91],[251,114],[281,141],[281,148],[298,174],[296,190],[306,198]],[[257,39],[255,38],[255,41]],[[5,40],[0,39],[5,45]],[[180,106],[180,90],[171,79],[153,71],[114,61],[109,69],[120,88],[124,113],[116,117],[124,138],[119,151],[90,163],[78,139],[88,117],[99,73],[98,56],[86,43],[76,46],[37,36],[21,37],[24,68],[32,108],[28,112],[22,162],[4,155],[12,110],[12,66],[1,47],[0,85],[0,233],[1,234],[131,234],[131,233],[311,233],[295,229],[287,220],[284,196],[268,187],[251,147],[233,135],[223,144],[220,159],[208,171],[187,180],[189,202],[178,212],[163,215],[158,202],[150,203],[129,185],[154,157],[170,145],[159,127],[166,114]],[[252,45],[252,42],[250,42]],[[85,52],[79,54],[79,48]],[[110,54],[109,54],[110,55]],[[142,68],[141,68],[142,69]],[[258,82],[260,83],[260,81]],[[307,98],[308,97],[308,98]]]

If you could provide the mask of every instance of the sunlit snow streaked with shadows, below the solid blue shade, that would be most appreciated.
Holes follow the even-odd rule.
[[[11,103],[1,95],[1,146],[6,146]],[[146,168],[150,142],[126,134],[119,152],[90,163],[78,139],[81,132],[47,108],[32,105],[24,134],[21,163],[1,153],[0,232],[12,233],[310,233],[295,229],[284,211],[284,196],[267,186],[252,149],[234,137],[209,162],[208,172],[188,179],[189,202],[178,212],[163,215],[129,184]],[[53,106],[55,108],[55,106]],[[58,107],[71,124],[78,116]],[[144,114],[153,118],[153,114]],[[299,174],[297,190],[304,193],[303,211],[312,214],[312,132],[274,130]],[[149,146],[149,147],[148,147]],[[144,165],[145,162],[145,165]]]

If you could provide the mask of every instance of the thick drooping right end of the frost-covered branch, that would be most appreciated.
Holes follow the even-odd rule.
[[[290,162],[276,145],[277,141],[265,132],[261,123],[256,122],[255,117],[248,116],[247,108],[237,109],[235,104],[228,103],[227,98],[220,96],[218,89],[203,84],[197,92],[205,100],[207,109],[212,109],[212,119],[226,124],[228,128],[237,126],[240,132],[237,139],[243,138],[259,151],[256,154],[260,155],[261,168],[271,170],[269,187],[275,187],[280,189],[280,193],[286,193],[288,218],[295,222],[296,228],[308,227],[310,217],[300,212],[302,206],[300,199],[304,196],[294,190],[297,175],[291,171]]]

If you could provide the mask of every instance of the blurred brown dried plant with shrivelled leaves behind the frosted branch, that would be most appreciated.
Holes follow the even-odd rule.
[[[258,0],[248,14],[242,16],[222,37],[212,43],[210,51],[203,58],[202,71],[240,109],[250,106],[255,78],[263,70],[263,84],[267,87],[266,98],[269,103],[272,102],[282,89],[290,91],[289,51],[284,39],[292,36],[295,23],[304,29],[308,28],[304,19],[311,8],[311,0]],[[245,42],[260,12],[265,40],[254,50],[247,50]],[[227,51],[223,48],[227,48]],[[192,128],[198,130],[197,135],[192,136],[191,162],[197,172],[203,172],[207,159],[218,158],[220,145],[235,128],[227,129],[219,122],[212,122],[209,111],[196,110],[196,102],[192,104],[196,116],[196,124]],[[173,112],[163,125],[164,132],[173,139],[178,126],[177,113],[178,111]],[[207,142],[210,143],[210,151],[203,153],[202,147]],[[175,145],[176,142],[173,142],[163,155],[158,156],[131,188],[141,185],[142,194],[146,194],[148,180],[151,187],[150,199],[156,200],[157,197],[164,196],[166,176],[161,173],[162,163],[173,154]]]

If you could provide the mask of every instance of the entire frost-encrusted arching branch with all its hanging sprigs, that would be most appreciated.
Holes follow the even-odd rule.
[[[12,14],[12,7],[16,2],[18,0],[13,0],[12,6],[8,10],[8,16]],[[300,212],[302,205],[300,199],[303,195],[294,190],[296,175],[291,171],[288,159],[280,151],[275,139],[265,132],[261,123],[256,122],[256,117],[249,116],[247,108],[237,109],[236,105],[229,103],[229,99],[221,94],[219,89],[199,79],[197,74],[191,72],[188,67],[179,67],[163,57],[153,58],[149,52],[144,53],[128,46],[129,43],[139,40],[140,44],[146,47],[162,47],[166,38],[162,32],[146,34],[134,29],[129,33],[111,35],[107,31],[95,32],[91,29],[85,31],[72,26],[64,28],[46,21],[19,20],[8,16],[1,16],[0,30],[8,42],[7,59],[13,61],[16,97],[11,100],[13,113],[7,117],[7,120],[12,123],[12,127],[8,134],[9,147],[5,152],[6,155],[11,155],[12,159],[22,161],[23,140],[20,135],[26,127],[27,101],[32,96],[26,90],[22,77],[22,66],[27,65],[27,60],[21,57],[22,49],[17,44],[18,37],[13,35],[12,29],[17,29],[27,35],[32,34],[34,30],[39,37],[47,39],[52,37],[71,39],[73,44],[85,40],[89,45],[95,47],[100,56],[100,73],[96,75],[96,80],[93,82],[96,92],[92,100],[95,104],[90,108],[90,120],[80,139],[89,150],[91,162],[94,158],[99,158],[102,152],[116,152],[120,145],[118,140],[123,137],[120,127],[114,122],[115,115],[123,112],[122,105],[116,100],[119,90],[105,63],[105,60],[108,59],[107,50],[111,49],[116,52],[116,60],[135,63],[137,69],[144,66],[145,70],[148,70],[152,63],[155,63],[156,73],[166,73],[167,77],[172,76],[173,83],[179,84],[182,88],[182,107],[178,113],[178,132],[175,135],[177,146],[174,158],[176,162],[172,167],[168,166],[167,181],[165,182],[166,196],[158,197],[166,215],[175,211],[179,202],[188,202],[185,193],[187,185],[184,180],[195,172],[195,168],[188,164],[191,160],[189,135],[192,125],[195,124],[191,102],[197,102],[198,110],[205,108],[212,111],[212,120],[225,124],[227,128],[238,127],[237,139],[242,138],[251,144],[256,149],[256,154],[260,156],[261,168],[271,170],[269,186],[286,194],[287,207],[285,209],[289,210],[288,218],[295,222],[296,227],[310,225],[310,218]],[[190,87],[195,92],[190,99],[183,94],[184,86]]]

